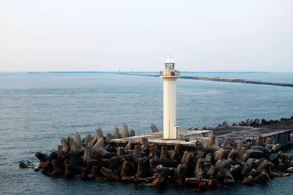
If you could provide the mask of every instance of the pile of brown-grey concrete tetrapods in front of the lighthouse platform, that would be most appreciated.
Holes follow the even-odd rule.
[[[271,138],[264,142],[259,136],[251,142],[239,140],[235,143],[226,137],[223,147],[215,140],[216,137],[211,135],[206,147],[197,141],[194,151],[182,151],[179,143],[174,148],[158,148],[158,145],[150,144],[147,137],[142,137],[143,145],[129,141],[125,148],[113,148],[106,142],[106,137],[90,134],[83,140],[80,136],[62,138],[62,145],[49,156],[36,153],[41,161],[37,170],[52,176],[79,175],[84,180],[110,179],[153,186],[187,185],[198,190],[236,181],[261,183],[293,173],[293,155],[281,152],[281,145],[272,144]],[[274,169],[287,174],[276,174]]]

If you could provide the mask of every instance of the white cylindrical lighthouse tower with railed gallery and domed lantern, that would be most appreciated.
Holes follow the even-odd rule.
[[[179,126],[176,126],[176,80],[180,71],[175,70],[175,62],[169,58],[165,61],[165,70],[160,71],[164,82],[164,139],[179,138]]]

